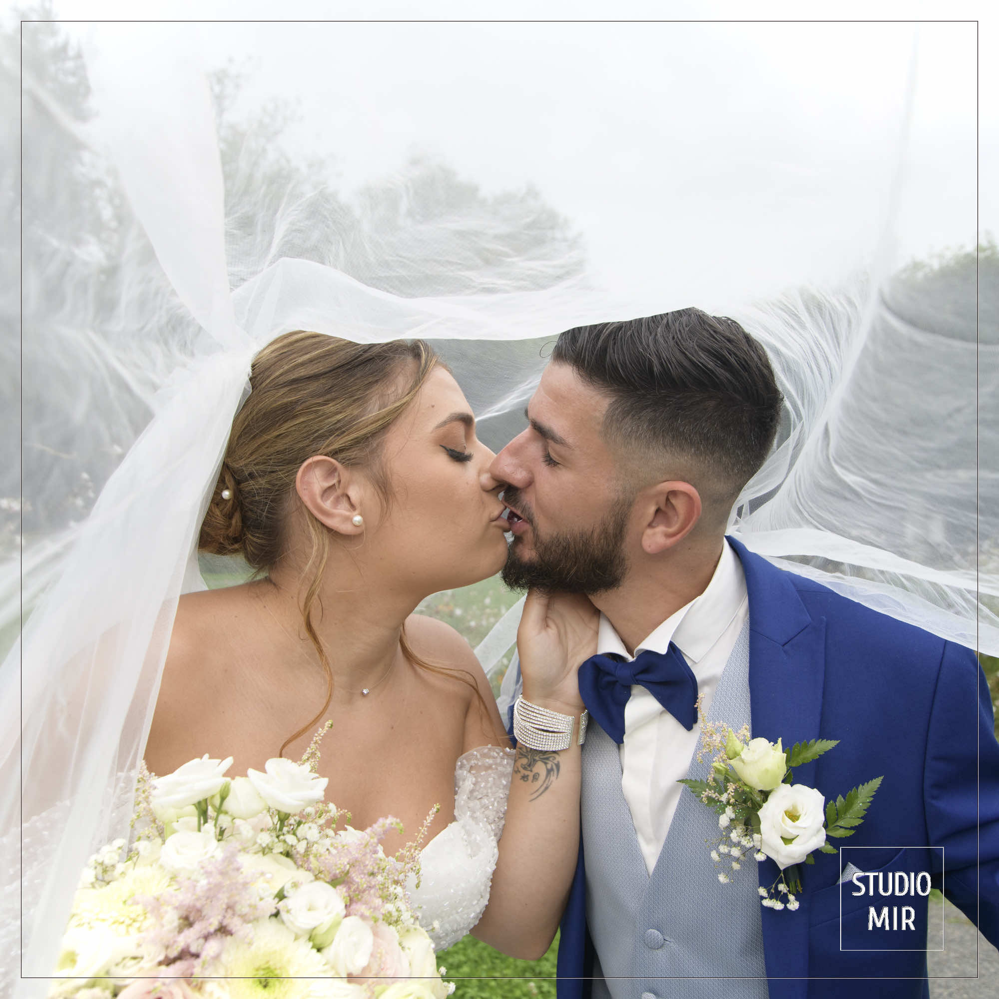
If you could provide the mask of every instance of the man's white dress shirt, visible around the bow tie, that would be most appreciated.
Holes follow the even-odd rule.
[[[748,616],[742,564],[725,541],[704,592],[670,614],[634,652],[665,652],[669,642],[674,642],[697,677],[697,691],[703,697],[701,710],[706,711]],[[596,650],[602,655],[615,652],[626,660],[634,658],[603,614]],[[621,790],[649,874],[684,789],[677,781],[686,776],[699,738],[699,722],[688,732],[643,686],[631,687],[624,705],[624,741],[620,746]]]

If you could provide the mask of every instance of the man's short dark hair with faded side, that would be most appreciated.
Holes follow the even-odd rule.
[[[766,459],[782,398],[734,320],[679,309],[566,330],[551,354],[610,397],[603,435],[644,461],[691,459],[734,500]]]

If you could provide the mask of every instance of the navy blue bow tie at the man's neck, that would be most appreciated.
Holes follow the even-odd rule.
[[[665,653],[645,649],[630,662],[593,655],[579,666],[579,693],[586,709],[618,745],[624,741],[624,705],[637,683],[687,730],[697,720],[697,677],[672,643]]]

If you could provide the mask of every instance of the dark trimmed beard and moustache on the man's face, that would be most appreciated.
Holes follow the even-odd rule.
[[[618,497],[604,517],[587,530],[563,531],[542,537],[537,532],[533,511],[508,486],[503,500],[516,506],[530,525],[534,541],[533,557],[527,561],[517,553],[514,537],[506,553],[500,576],[510,589],[536,588],[565,593],[600,593],[616,589],[627,571],[624,534],[631,500]]]

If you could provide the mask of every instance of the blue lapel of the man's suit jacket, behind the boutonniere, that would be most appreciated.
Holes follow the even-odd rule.
[[[817,738],[825,676],[825,618],[813,619],[788,573],[728,538],[742,562],[749,597],[749,703],[753,737],[784,748]],[[794,783],[814,787],[814,762],[794,771]],[[758,865],[764,888],[776,880],[772,860]],[[808,867],[796,912],[763,909],[763,954],[771,999],[804,997],[808,991]]]

